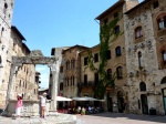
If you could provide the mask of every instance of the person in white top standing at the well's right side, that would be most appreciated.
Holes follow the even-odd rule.
[[[41,111],[41,117],[45,118],[45,111],[46,111],[46,93],[44,92],[42,95],[39,95],[40,97],[40,111]]]

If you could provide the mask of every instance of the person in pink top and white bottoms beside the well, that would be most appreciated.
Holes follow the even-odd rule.
[[[22,107],[22,95],[18,94],[17,99],[18,99],[18,101],[17,101],[17,105],[15,105],[15,114],[17,114],[17,117],[20,117],[21,107]]]

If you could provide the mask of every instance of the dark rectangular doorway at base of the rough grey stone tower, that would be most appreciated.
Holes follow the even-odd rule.
[[[142,94],[141,95],[141,101],[142,101],[142,113],[143,114],[148,114],[147,95]]]

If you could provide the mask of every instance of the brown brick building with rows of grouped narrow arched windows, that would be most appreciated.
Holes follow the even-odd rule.
[[[74,45],[63,51],[64,58],[64,82],[63,82],[63,96],[74,97],[77,96],[77,83],[81,81],[81,65],[80,52],[86,50],[86,46]],[[70,103],[71,106],[75,105],[74,102]]]

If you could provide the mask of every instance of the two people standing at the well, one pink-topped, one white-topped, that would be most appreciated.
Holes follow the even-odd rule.
[[[40,117],[45,118],[45,107],[46,107],[46,93],[44,92],[42,95],[39,95],[40,99]],[[21,107],[23,105],[22,95],[17,95],[17,104],[15,104],[15,115],[19,118],[21,115]]]

